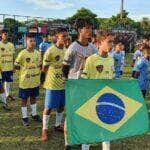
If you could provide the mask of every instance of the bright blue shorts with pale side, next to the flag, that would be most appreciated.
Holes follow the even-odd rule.
[[[65,90],[46,90],[45,108],[57,109],[65,106]]]

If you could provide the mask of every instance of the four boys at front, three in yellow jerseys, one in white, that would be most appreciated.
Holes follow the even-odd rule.
[[[48,139],[50,113],[56,109],[55,130],[63,131],[63,111],[65,107],[65,81],[72,79],[112,79],[114,78],[114,60],[109,55],[113,46],[113,35],[103,31],[97,36],[96,47],[89,42],[92,37],[92,23],[89,20],[76,21],[78,39],[66,50],[68,32],[59,28],[56,33],[57,42],[51,46],[43,58],[35,50],[36,41],[32,34],[27,35],[27,47],[22,50],[16,60],[15,69],[19,70],[19,97],[22,99],[22,123],[29,125],[27,101],[30,100],[31,117],[42,122],[37,114],[37,96],[39,95],[41,70],[46,73],[44,83],[45,107],[43,111],[42,141]],[[0,57],[1,58],[1,57]],[[66,139],[65,139],[66,140]],[[82,150],[90,145],[83,144]],[[65,149],[70,146],[65,141]],[[110,143],[103,142],[103,149],[109,150]]]

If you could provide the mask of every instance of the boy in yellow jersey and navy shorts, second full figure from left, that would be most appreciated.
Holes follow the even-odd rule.
[[[19,97],[22,99],[22,123],[28,126],[27,100],[30,99],[31,117],[37,122],[42,122],[36,111],[36,97],[39,95],[41,57],[35,48],[36,41],[33,35],[27,35],[27,48],[22,50],[16,61],[15,68],[20,70]]]

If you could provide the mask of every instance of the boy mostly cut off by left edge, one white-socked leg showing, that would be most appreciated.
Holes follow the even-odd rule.
[[[1,59],[1,55],[0,55],[0,97],[1,97],[2,105],[3,105],[3,109],[10,110],[6,104],[6,95],[5,95],[5,91],[3,88],[3,81],[2,81],[2,75],[1,75],[2,69],[1,68],[2,68],[2,59]]]

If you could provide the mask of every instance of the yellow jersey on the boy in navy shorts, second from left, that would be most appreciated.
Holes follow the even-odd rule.
[[[22,50],[15,61],[15,66],[20,67],[19,88],[28,89],[40,85],[41,57],[37,50],[34,52]]]

